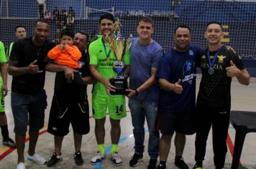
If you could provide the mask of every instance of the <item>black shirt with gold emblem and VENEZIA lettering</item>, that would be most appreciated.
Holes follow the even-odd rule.
[[[226,67],[230,67],[232,60],[238,69],[245,69],[241,57],[230,47],[221,47],[212,66],[213,74],[209,74],[209,60],[207,57],[208,48],[198,57],[197,64],[201,68],[202,77],[197,97],[197,107],[209,107],[209,110],[230,111],[231,77],[227,77]],[[216,52],[209,52],[211,62]]]

